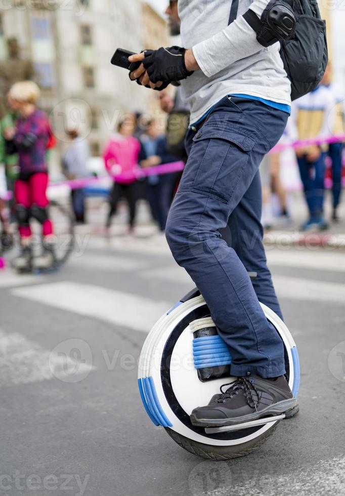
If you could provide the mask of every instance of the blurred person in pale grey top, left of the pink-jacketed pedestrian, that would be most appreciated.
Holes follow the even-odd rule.
[[[88,160],[90,148],[88,140],[81,138],[76,129],[67,131],[70,145],[62,158],[62,167],[65,176],[69,180],[83,179],[90,176]],[[85,192],[84,188],[71,189],[71,202],[74,219],[78,224],[85,222]]]

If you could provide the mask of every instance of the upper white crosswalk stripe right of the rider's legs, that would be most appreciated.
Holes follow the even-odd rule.
[[[269,266],[345,272],[345,253],[324,250],[267,250]]]

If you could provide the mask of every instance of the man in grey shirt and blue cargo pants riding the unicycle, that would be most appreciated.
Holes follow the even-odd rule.
[[[130,77],[155,90],[181,80],[191,109],[189,157],[166,239],[206,301],[236,377],[208,405],[194,408],[190,420],[223,427],[297,405],[282,340],[259,303],[282,318],[263,245],[258,173],[290,114],[292,79],[277,42],[293,35],[296,18],[276,0],[179,0],[178,6],[182,42],[192,48],[134,55],[130,62],[142,65]],[[227,226],[230,245],[221,237]],[[253,282],[248,272],[257,273]]]

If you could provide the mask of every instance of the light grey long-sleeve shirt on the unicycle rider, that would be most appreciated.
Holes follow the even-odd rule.
[[[242,17],[249,7],[261,17],[268,3],[239,0],[237,19],[228,26],[231,0],[179,0],[182,43],[193,49],[201,68],[182,81],[191,123],[230,94],[291,104],[280,44],[264,48]]]

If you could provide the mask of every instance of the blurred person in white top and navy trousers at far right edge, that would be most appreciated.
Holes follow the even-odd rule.
[[[332,82],[332,68],[330,64],[328,64],[327,66],[321,84],[324,85],[324,87],[330,91],[332,98],[335,102],[334,127],[333,129],[331,129],[331,134],[333,135],[344,134],[345,129],[344,129],[344,112],[342,107],[342,102],[343,102],[342,92]],[[331,167],[332,167],[332,197],[333,197],[332,220],[334,222],[339,221],[338,206],[340,203],[340,196],[341,196],[342,150],[343,150],[343,142],[340,141],[338,143],[330,143],[327,152],[329,158],[331,159]]]

